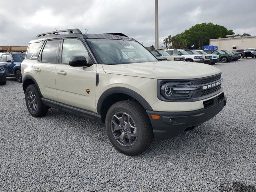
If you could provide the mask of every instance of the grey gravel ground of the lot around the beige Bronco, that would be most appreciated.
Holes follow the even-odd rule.
[[[256,191],[256,59],[215,65],[227,106],[194,132],[116,151],[104,125],[26,108],[22,84],[0,86],[0,191]]]

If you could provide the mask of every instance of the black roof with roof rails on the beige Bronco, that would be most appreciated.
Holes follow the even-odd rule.
[[[60,32],[68,32],[68,34],[58,34]],[[82,34],[79,29],[67,29],[53,32],[46,32],[38,34],[36,38],[30,40],[30,43],[40,42],[42,40],[56,39],[56,38],[68,38],[68,37],[78,37],[85,39],[120,39],[120,40],[131,40],[135,41],[122,33],[105,33],[105,34]]]

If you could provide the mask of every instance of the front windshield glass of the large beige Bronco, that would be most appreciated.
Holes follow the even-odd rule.
[[[126,64],[158,61],[136,41],[87,39],[101,64]]]

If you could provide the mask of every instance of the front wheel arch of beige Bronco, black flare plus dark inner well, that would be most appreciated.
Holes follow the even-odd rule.
[[[112,104],[122,100],[135,100],[145,110],[152,110],[150,104],[137,92],[124,87],[114,87],[106,90],[100,96],[97,103],[97,112],[101,115],[102,122],[105,122],[106,113]]]

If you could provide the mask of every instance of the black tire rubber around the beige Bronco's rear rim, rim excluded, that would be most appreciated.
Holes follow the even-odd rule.
[[[34,94],[34,96],[36,97],[36,110],[35,111],[32,111],[28,105],[28,93],[29,92],[32,92]],[[28,108],[28,112],[34,116],[34,117],[42,117],[42,116],[45,116],[46,113],[48,112],[48,108],[46,108],[44,106],[44,104],[42,103],[42,100],[41,100],[41,95],[38,91],[38,89],[36,88],[36,85],[33,84],[33,85],[30,85],[27,87],[26,89],[26,92],[25,92],[25,100],[26,100],[26,106]]]

